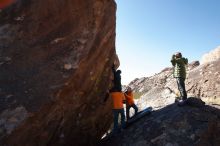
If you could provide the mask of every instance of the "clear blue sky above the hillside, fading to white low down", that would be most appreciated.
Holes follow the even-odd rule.
[[[220,0],[116,0],[116,51],[122,84],[189,62],[220,45]]]

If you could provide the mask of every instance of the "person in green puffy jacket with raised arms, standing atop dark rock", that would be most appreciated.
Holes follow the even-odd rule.
[[[172,56],[171,63],[174,66],[174,78],[176,78],[178,89],[181,95],[182,104],[187,99],[187,93],[185,89],[185,79],[186,79],[186,65],[188,64],[188,59],[182,57],[180,52],[177,52]]]

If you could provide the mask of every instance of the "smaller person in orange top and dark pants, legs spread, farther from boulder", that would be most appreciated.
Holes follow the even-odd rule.
[[[125,99],[126,99],[126,118],[127,120],[129,120],[130,119],[130,115],[129,115],[130,108],[131,107],[134,108],[135,115],[136,115],[138,112],[138,107],[134,104],[134,95],[133,95],[131,87],[128,87],[127,91],[124,94],[125,94]]]

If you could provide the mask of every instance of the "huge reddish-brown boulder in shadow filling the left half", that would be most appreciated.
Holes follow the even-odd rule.
[[[115,12],[114,0],[18,0],[0,12],[0,118],[24,113],[6,112],[16,122],[0,122],[2,143],[92,145],[107,131]]]

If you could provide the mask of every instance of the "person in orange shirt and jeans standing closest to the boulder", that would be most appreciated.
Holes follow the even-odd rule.
[[[114,116],[114,127],[113,133],[119,133],[121,128],[125,128],[125,113],[123,107],[123,100],[125,99],[123,92],[111,92],[110,93],[113,101],[113,116]],[[121,116],[121,127],[118,126],[118,117]]]

